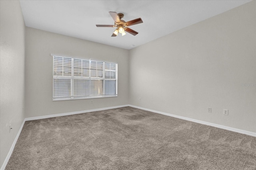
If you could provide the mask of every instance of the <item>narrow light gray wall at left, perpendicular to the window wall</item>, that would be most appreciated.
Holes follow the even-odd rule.
[[[25,24],[19,1],[0,1],[0,37],[1,167],[24,120]]]

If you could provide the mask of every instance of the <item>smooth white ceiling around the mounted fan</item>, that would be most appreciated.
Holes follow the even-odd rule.
[[[132,49],[174,31],[216,16],[251,0],[20,0],[26,26],[97,43]],[[138,32],[111,37],[109,11],[123,13]]]

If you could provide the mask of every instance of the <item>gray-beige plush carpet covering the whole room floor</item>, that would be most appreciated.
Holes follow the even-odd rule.
[[[255,170],[256,137],[122,107],[26,121],[6,170]]]

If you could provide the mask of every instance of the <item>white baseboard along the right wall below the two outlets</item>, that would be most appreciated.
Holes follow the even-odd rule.
[[[152,112],[154,112],[154,113],[159,113],[159,114],[162,114],[162,115],[167,115],[167,116],[171,116],[171,117],[176,117],[176,118],[179,118],[179,119],[184,119],[184,120],[187,120],[187,121],[192,121],[192,122],[195,122],[195,123],[200,123],[200,124],[204,124],[204,125],[209,125],[209,126],[213,126],[213,127],[218,127],[218,128],[220,128],[220,129],[225,129],[225,130],[228,130],[228,131],[233,131],[233,132],[242,133],[242,134],[245,134],[245,135],[250,135],[250,136],[256,137],[256,133],[250,132],[250,131],[244,131],[244,130],[236,129],[236,128],[233,128],[233,127],[218,125],[218,124],[215,124],[215,123],[209,123],[209,122],[206,122],[206,121],[200,121],[200,120],[191,119],[191,118],[188,118],[188,117],[182,117],[182,116],[173,115],[173,114],[170,114],[170,113],[164,113],[164,112],[162,112],[162,111],[156,111],[156,110],[152,110],[152,109],[146,109],[146,108],[143,108],[143,107],[138,107],[138,106],[133,106],[133,105],[129,105],[129,106],[130,106],[130,107],[134,107],[134,108],[138,108],[138,109],[142,109],[142,110],[146,110],[146,111],[152,111]]]

